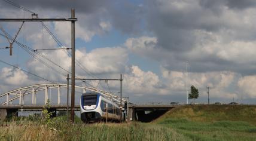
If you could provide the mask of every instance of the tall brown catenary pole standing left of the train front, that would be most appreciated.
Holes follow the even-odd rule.
[[[71,19],[75,19],[75,10],[71,10]],[[71,48],[72,48],[72,60],[71,60],[71,121],[74,123],[74,107],[75,107],[75,20],[71,21]]]

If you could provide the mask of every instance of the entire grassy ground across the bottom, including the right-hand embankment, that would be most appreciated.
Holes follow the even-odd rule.
[[[150,123],[66,124],[66,117],[3,122],[0,140],[256,140],[256,107],[196,105]]]

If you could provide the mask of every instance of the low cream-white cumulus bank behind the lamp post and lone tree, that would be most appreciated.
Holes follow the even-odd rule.
[[[166,79],[169,90],[173,93],[182,91],[186,93],[187,75],[185,72],[169,71],[162,68],[163,78]],[[230,99],[238,97],[236,79],[240,75],[234,72],[207,72],[207,73],[188,73],[188,91],[194,85],[199,89],[200,96],[206,96],[206,87],[211,89],[211,97]],[[231,90],[233,88],[233,90]]]

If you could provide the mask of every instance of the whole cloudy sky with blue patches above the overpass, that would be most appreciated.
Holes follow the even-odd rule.
[[[69,18],[75,8],[75,75],[81,78],[120,78],[123,95],[131,102],[185,103],[186,62],[188,91],[199,90],[198,103],[256,104],[256,1],[154,0],[154,1],[15,1],[40,18]],[[31,18],[31,13],[0,1],[0,18]],[[22,23],[1,22],[14,36]],[[45,22],[61,42],[71,47],[71,24]],[[2,33],[2,32],[0,32]],[[17,41],[33,50],[58,48],[41,23],[25,22]],[[0,46],[8,46],[0,36]],[[71,57],[63,50],[40,51],[66,70]],[[69,51],[70,53],[70,51]],[[47,60],[45,65],[14,43],[13,56],[0,49],[0,60],[54,82],[66,83],[65,70]],[[80,67],[83,66],[83,67]],[[0,93],[44,83],[0,62]],[[98,82],[77,81],[76,85]],[[117,93],[120,82],[109,82]],[[109,90],[105,82],[99,89]],[[118,94],[118,93],[117,93]]]

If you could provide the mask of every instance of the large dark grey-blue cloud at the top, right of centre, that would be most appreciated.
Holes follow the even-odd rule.
[[[170,1],[148,4],[147,26],[157,36],[160,47],[175,52],[190,51],[196,44],[194,30],[220,28],[216,21],[218,16],[212,15],[210,11],[203,13],[197,4],[181,2],[181,7],[177,6]]]

